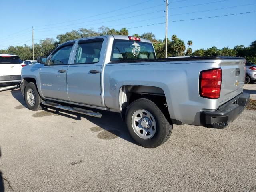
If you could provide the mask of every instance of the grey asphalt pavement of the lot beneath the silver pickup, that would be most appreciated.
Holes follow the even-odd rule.
[[[0,92],[0,191],[256,191],[256,112],[225,129],[174,125],[154,149],[134,144],[120,115],[30,111]]]

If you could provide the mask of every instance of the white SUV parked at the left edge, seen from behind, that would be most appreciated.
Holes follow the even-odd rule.
[[[0,86],[20,84],[22,67],[26,66],[17,55],[0,54]]]

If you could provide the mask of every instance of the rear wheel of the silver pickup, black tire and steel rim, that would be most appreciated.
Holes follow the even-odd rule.
[[[135,100],[128,106],[125,121],[130,136],[137,144],[145,148],[160,146],[172,133],[172,124],[160,108],[146,98]]]

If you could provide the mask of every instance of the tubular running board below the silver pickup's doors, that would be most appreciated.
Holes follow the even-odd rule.
[[[95,113],[91,110],[86,110],[86,109],[82,109],[82,108],[78,108],[78,107],[68,107],[68,106],[64,106],[64,105],[50,102],[50,101],[42,102],[42,104],[46,105],[46,106],[54,107],[57,109],[62,109],[62,110],[66,110],[66,111],[71,111],[71,112],[76,112],[76,113],[80,113],[80,114],[84,114],[84,115],[101,118],[101,113],[99,113],[99,112]]]

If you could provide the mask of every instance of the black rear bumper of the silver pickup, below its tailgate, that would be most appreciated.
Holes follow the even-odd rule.
[[[250,99],[250,94],[242,93],[228,101],[216,111],[203,111],[201,122],[209,128],[225,128],[243,112]]]

